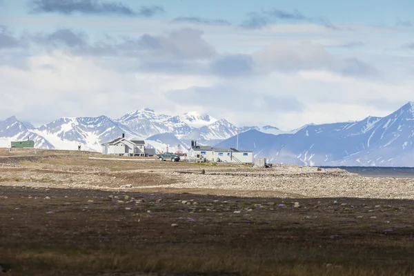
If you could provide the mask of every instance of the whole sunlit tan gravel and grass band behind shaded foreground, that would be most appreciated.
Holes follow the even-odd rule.
[[[59,161],[61,159],[56,156],[42,160],[43,163],[4,161],[0,166],[0,185],[99,190],[125,190],[121,186],[127,185],[132,187],[130,190],[146,192],[175,190],[175,193],[180,193],[181,190],[191,193],[197,190],[197,193],[237,195],[235,191],[240,191],[247,196],[275,192],[282,197],[414,199],[414,179],[362,177],[333,168],[190,166],[148,161],[134,165],[133,168],[138,169],[114,171],[110,166],[126,163],[130,166],[130,162],[104,161],[101,166],[96,166],[93,161],[82,159],[83,165],[79,166]],[[48,164],[48,160],[56,164]]]

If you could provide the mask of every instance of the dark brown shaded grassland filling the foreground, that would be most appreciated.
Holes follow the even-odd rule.
[[[118,204],[125,194],[111,200],[109,193],[99,191],[0,188],[0,193],[0,221],[6,226],[0,228],[0,263],[11,266],[9,275],[412,275],[413,271],[411,201],[340,199],[355,206],[347,210],[333,206],[331,199],[319,199],[319,204],[299,199],[302,208],[291,208],[290,202],[297,199],[284,200],[288,207],[278,207],[282,199],[129,193],[145,202]],[[157,199],[161,201],[156,203]],[[171,227],[172,223],[178,226]],[[387,228],[393,232],[384,232]]]

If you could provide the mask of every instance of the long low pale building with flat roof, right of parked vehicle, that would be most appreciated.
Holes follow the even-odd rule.
[[[235,148],[214,148],[212,146],[197,146],[197,141],[191,141],[188,150],[188,160],[194,157],[213,162],[253,163],[253,151],[237,150]]]

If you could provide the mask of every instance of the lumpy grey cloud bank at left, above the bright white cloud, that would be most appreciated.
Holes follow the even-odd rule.
[[[203,39],[201,30],[183,28],[168,35],[143,34],[140,37],[107,37],[89,42],[88,35],[70,29],[59,29],[50,34],[28,35],[31,43],[48,50],[68,50],[72,55],[132,57],[142,61],[166,64],[164,61],[211,59],[217,55],[213,46]],[[172,63],[171,63],[172,65]]]

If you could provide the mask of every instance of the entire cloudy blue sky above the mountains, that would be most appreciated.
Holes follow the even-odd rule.
[[[236,126],[355,121],[414,101],[414,1],[0,0],[0,119],[139,108]]]

